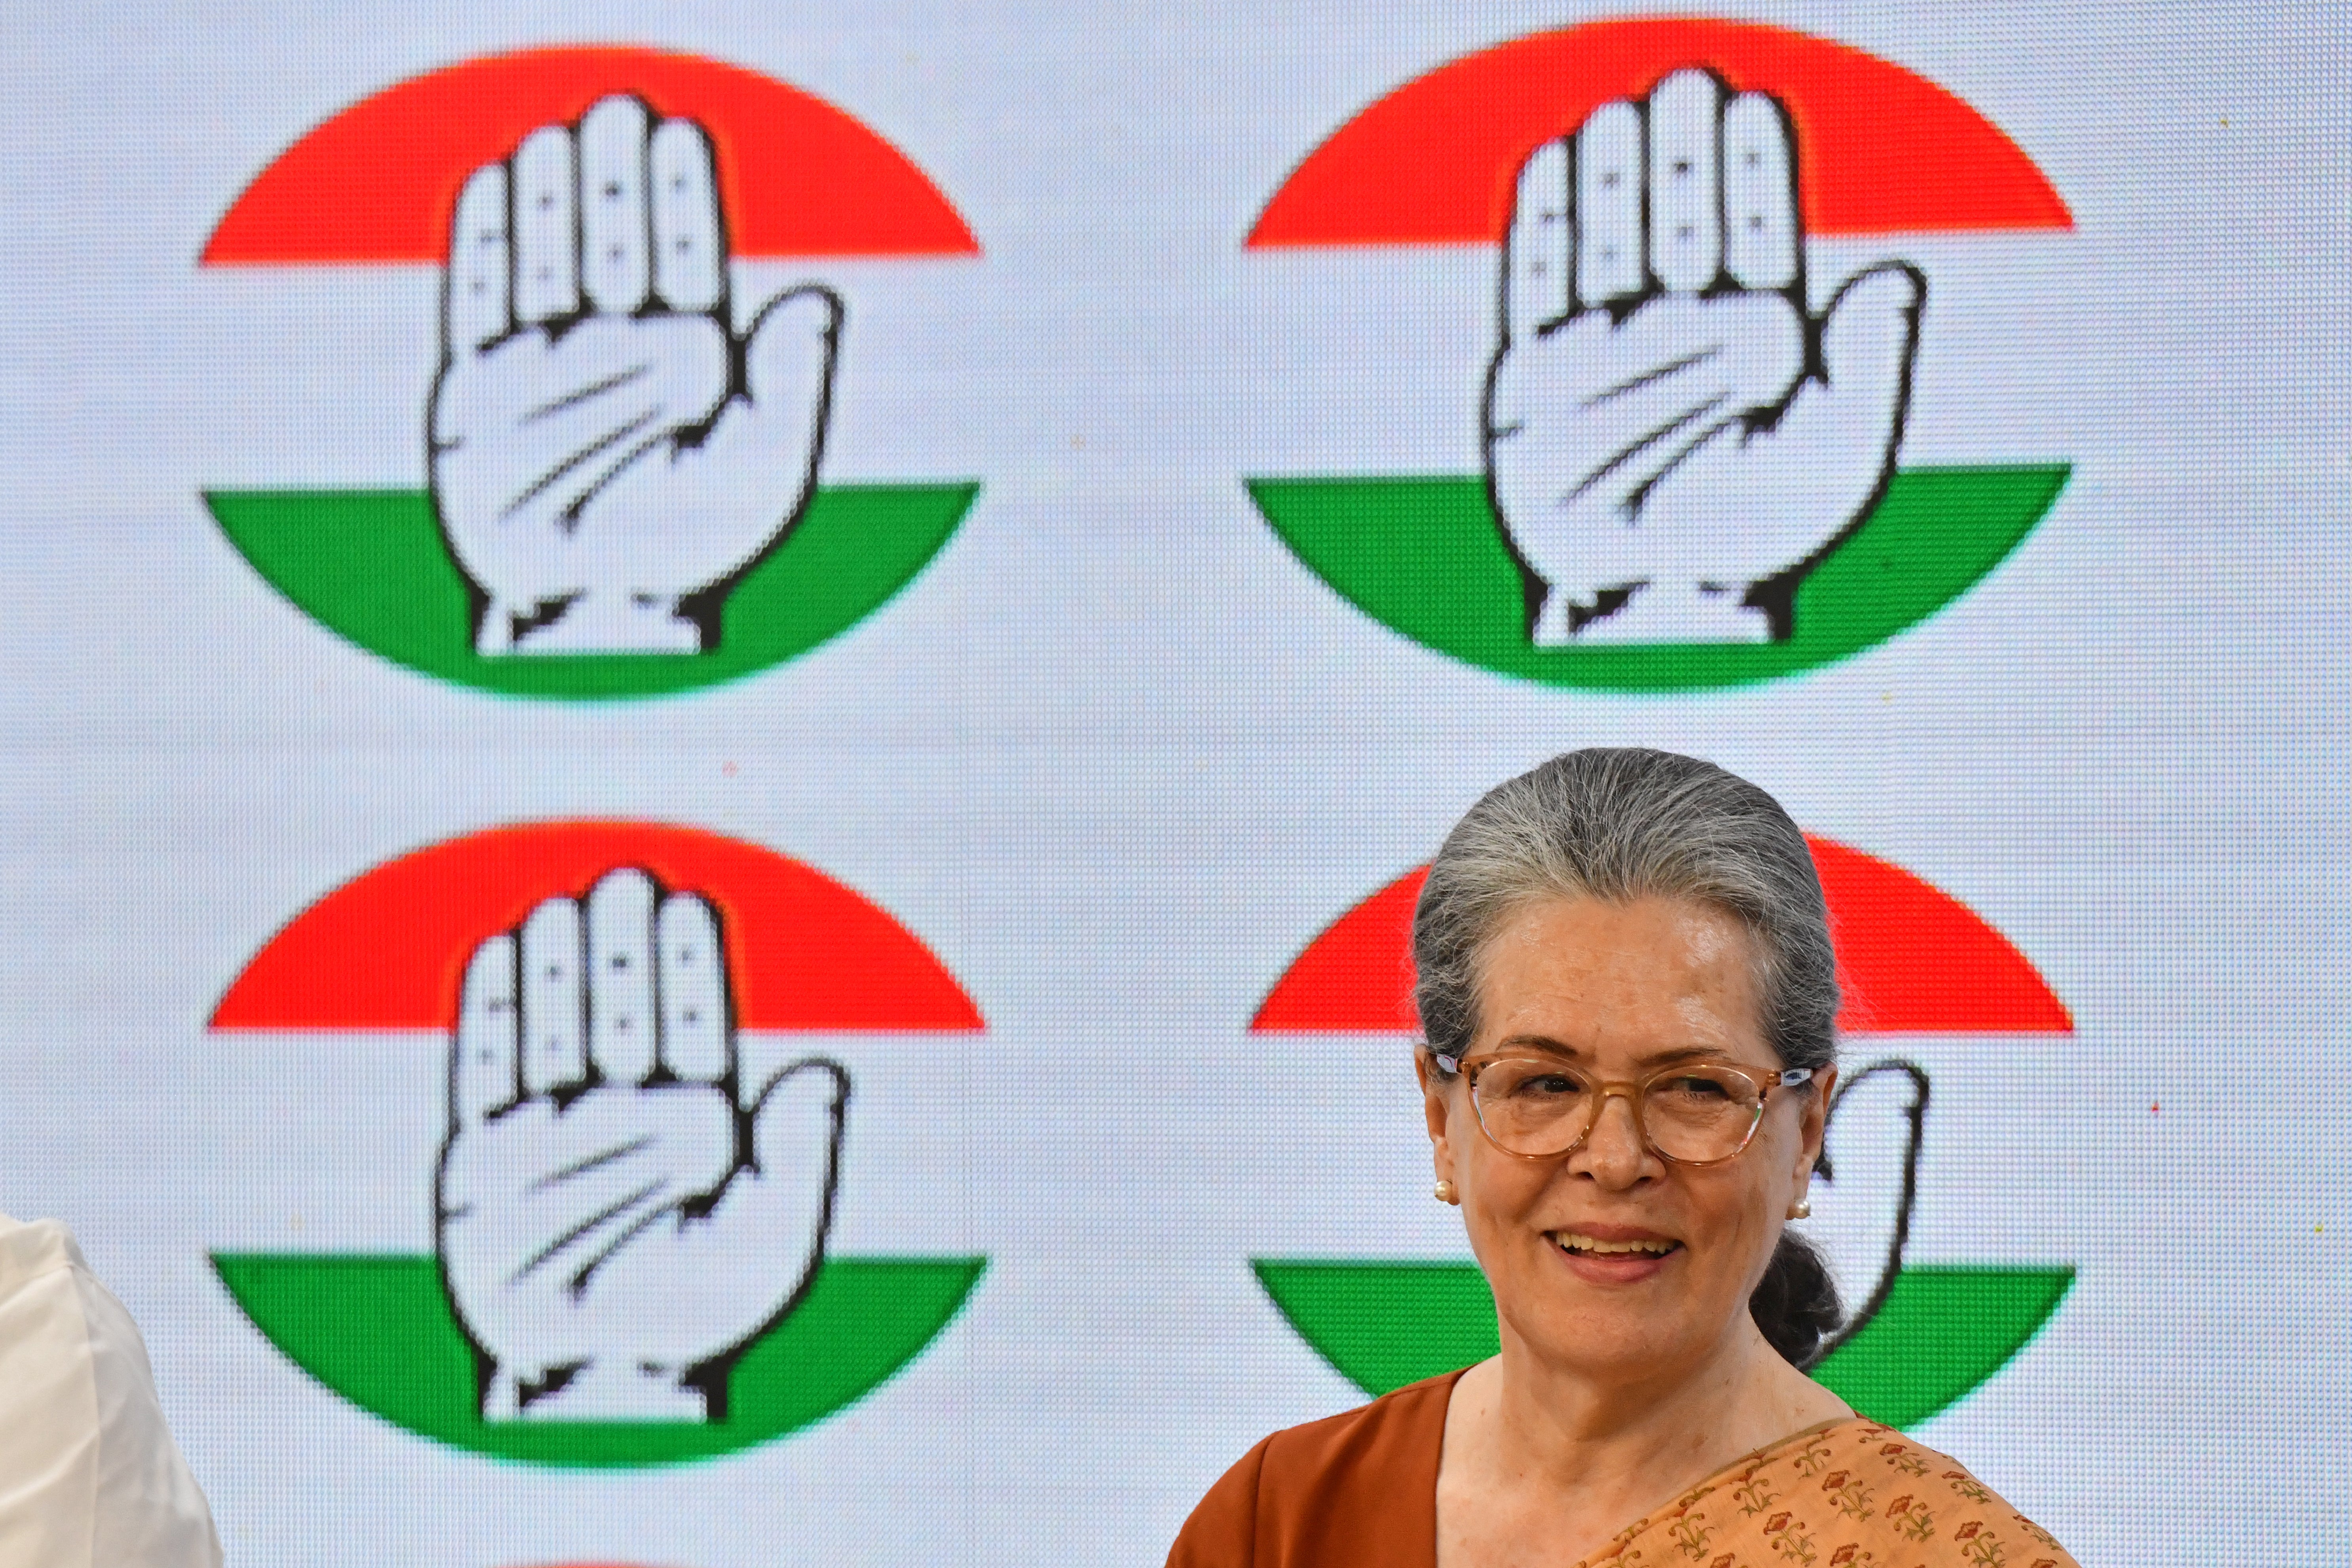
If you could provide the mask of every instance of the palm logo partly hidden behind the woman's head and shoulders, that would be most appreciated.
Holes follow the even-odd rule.
[[[1846,992],[1846,1067],[1802,1227],[1830,1262],[1846,1321],[1811,1371],[1865,1415],[1910,1427],[2002,1371],[2074,1281],[2070,1265],[1919,1255],[1936,1135],[1931,1079],[1912,1056],[1936,1037],[2009,1041],[2070,1034],[2074,1023],[1966,905],[1844,844],[1811,846]],[[1421,879],[1395,879],[1317,936],[1251,1032],[1406,1039]],[[1369,1394],[1496,1352],[1494,1298],[1475,1262],[1258,1258],[1254,1269],[1291,1328]]]

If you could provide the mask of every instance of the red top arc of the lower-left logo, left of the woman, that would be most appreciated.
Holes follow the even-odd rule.
[[[955,976],[880,905],[757,844],[663,823],[492,827],[386,860],[296,914],[214,1030],[447,1030],[482,938],[635,865],[720,912],[746,1030],[978,1030]]]

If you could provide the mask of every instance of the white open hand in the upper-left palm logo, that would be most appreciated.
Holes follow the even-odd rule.
[[[816,489],[842,303],[729,324],[710,141],[604,99],[466,181],[433,505],[482,654],[694,654]]]

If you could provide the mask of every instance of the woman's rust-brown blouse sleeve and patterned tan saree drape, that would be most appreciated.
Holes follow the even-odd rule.
[[[1272,1434],[1192,1509],[1169,1568],[1435,1568],[1456,1378]],[[1858,1415],[1719,1469],[1585,1563],[2077,1568],[1962,1465]]]

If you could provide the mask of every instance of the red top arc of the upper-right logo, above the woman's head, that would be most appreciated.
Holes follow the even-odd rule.
[[[1496,244],[1531,150],[1682,66],[1788,106],[1809,235],[2074,226],[2018,143],[1926,78],[1825,38],[1656,16],[1534,33],[1414,78],[1308,153],[1247,244]]]

